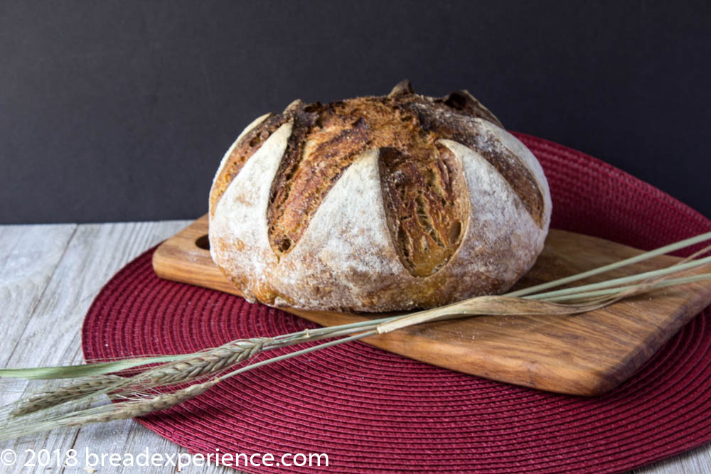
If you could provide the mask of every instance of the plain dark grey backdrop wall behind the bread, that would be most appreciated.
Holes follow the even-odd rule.
[[[0,3],[0,222],[196,217],[252,118],[403,77],[710,216],[710,20],[678,1]]]

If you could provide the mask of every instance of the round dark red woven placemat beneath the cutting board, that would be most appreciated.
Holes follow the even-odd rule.
[[[545,168],[553,227],[643,249],[711,230],[705,217],[602,161],[517,136]],[[95,299],[82,335],[87,359],[193,352],[314,327],[158,279],[151,253]],[[710,325],[707,309],[602,397],[538,392],[349,343],[247,372],[139,421],[191,452],[328,453],[336,472],[626,470],[711,440]]]

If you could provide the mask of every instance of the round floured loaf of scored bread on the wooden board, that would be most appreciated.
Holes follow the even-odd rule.
[[[395,311],[506,291],[550,222],[540,164],[466,90],[292,102],[210,190],[210,252],[250,301]]]

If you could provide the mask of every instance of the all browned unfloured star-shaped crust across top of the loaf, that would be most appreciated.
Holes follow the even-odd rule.
[[[510,183],[535,222],[543,225],[543,197],[533,174],[476,118],[501,126],[466,90],[434,99],[415,94],[409,81],[383,97],[324,105],[293,102],[237,144],[213,186],[210,210],[264,139],[292,120],[292,135],[267,208],[269,243],[277,257],[299,242],[326,194],[355,158],[368,149],[381,149],[381,184],[393,242],[411,274],[428,276],[459,247],[469,215],[464,176],[449,151],[438,149],[439,139],[458,141],[480,153]],[[457,233],[456,225],[459,235],[450,238]]]

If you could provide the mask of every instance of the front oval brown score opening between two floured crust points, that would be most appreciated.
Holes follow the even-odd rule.
[[[385,147],[378,164],[387,227],[400,262],[412,276],[432,275],[449,262],[466,229],[464,174],[446,148],[418,159]]]

